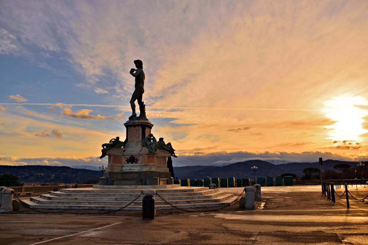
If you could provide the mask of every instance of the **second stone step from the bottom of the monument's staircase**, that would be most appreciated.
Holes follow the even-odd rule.
[[[233,197],[233,194],[223,194],[221,196],[215,197],[215,198],[201,198],[201,199],[187,199],[187,200],[170,200],[170,203],[173,205],[177,204],[190,204],[190,203],[207,203],[207,202],[222,202],[230,197]],[[130,201],[107,201],[107,200],[54,200],[53,198],[50,198],[50,195],[40,195],[40,197],[31,197],[30,200],[39,204],[56,204],[56,205],[127,205]],[[142,205],[142,199],[138,199],[131,205]],[[167,200],[167,199],[166,199]],[[167,200],[169,201],[169,200]],[[161,200],[161,198],[156,197],[155,201],[156,205],[164,205],[165,202]]]

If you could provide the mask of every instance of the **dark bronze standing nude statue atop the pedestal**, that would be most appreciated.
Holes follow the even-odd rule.
[[[132,107],[132,115],[129,117],[129,120],[136,120],[136,119],[144,119],[146,118],[146,112],[145,112],[145,105],[142,101],[142,96],[144,93],[144,79],[145,75],[143,72],[143,62],[141,60],[135,60],[134,61],[135,67],[137,69],[130,69],[130,74],[135,77],[135,90],[132,94],[132,98],[130,99],[130,106]],[[137,100],[139,105],[139,117],[137,117],[137,113],[135,113],[135,101]]]

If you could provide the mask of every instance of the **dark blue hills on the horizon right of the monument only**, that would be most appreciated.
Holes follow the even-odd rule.
[[[273,160],[271,160],[273,161]],[[355,162],[345,162],[337,160],[323,161],[323,169],[333,169],[333,166],[339,163],[346,163],[350,166],[355,166]],[[262,160],[250,160],[245,162],[232,163],[225,166],[184,166],[174,167],[175,176],[178,179],[203,179],[209,177],[236,177],[250,178],[254,173],[251,170],[252,166],[257,166],[256,177],[266,175],[276,176],[283,173],[294,173],[298,176],[303,175],[303,170],[307,167],[320,168],[318,162],[289,162],[281,164],[273,164]]]

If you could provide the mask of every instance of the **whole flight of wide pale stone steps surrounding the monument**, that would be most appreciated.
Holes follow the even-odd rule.
[[[234,199],[233,194],[209,189],[208,187],[158,188],[156,192],[167,202],[178,208],[207,208],[226,206]],[[144,189],[71,188],[49,191],[39,197],[31,197],[25,202],[31,208],[40,209],[120,209],[133,201]],[[127,210],[142,210],[143,194]],[[155,208],[172,209],[158,195]]]

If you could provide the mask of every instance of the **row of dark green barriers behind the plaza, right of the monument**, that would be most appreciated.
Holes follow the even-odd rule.
[[[275,178],[275,180],[273,179]],[[263,177],[256,177],[255,183],[260,184],[261,186],[265,185],[265,179]],[[203,180],[190,180],[190,179],[180,179],[180,180],[174,180],[174,184],[180,184],[181,186],[204,186],[209,187],[210,184],[216,184],[217,187],[245,187],[250,185],[249,178],[245,179],[237,179],[235,181],[234,177],[230,178],[205,178]],[[281,186],[282,185],[282,177],[276,176],[266,177],[266,186]],[[293,176],[284,176],[284,185],[293,185]]]

